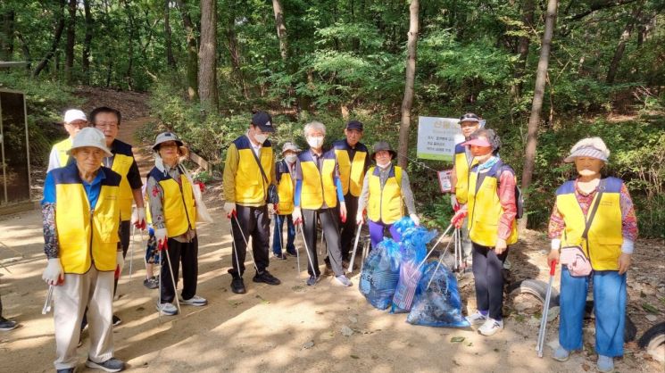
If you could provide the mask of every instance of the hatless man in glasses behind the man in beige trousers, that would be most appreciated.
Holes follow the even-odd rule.
[[[106,146],[111,150],[112,156],[104,158],[104,166],[121,177],[119,203],[121,206],[121,230],[120,238],[122,245],[122,258],[127,256],[129,249],[129,224],[130,220],[139,229],[145,229],[145,207],[143,195],[141,195],[141,174],[138,172],[137,161],[134,159],[131,145],[117,139],[121,126],[121,112],[106,106],[100,106],[90,112],[90,122],[93,127],[104,133]],[[137,210],[132,215],[131,205],[137,203]],[[121,269],[122,271],[122,266]],[[115,278],[113,294],[118,287],[118,278]],[[119,325],[122,320],[113,315],[113,325]]]

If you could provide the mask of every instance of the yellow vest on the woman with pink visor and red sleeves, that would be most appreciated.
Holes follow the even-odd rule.
[[[470,171],[469,178],[469,236],[478,245],[495,247],[499,234],[499,220],[503,215],[503,206],[499,201],[498,187],[503,162],[497,162],[487,171],[482,185],[478,186],[478,166]],[[512,220],[511,236],[506,244],[517,242],[517,222]]]

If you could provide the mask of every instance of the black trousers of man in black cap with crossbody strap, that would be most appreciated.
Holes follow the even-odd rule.
[[[234,250],[231,252],[231,261],[233,268],[229,273],[233,277],[243,277],[245,273],[245,257],[247,254],[247,243],[249,237],[252,237],[252,253],[254,254],[254,264],[259,272],[268,268],[270,259],[268,251],[270,249],[270,219],[268,219],[268,206],[260,207],[236,205],[237,220],[231,218],[231,229],[233,231]],[[240,226],[237,225],[240,223]],[[243,236],[245,238],[243,238]],[[237,259],[236,259],[237,255]],[[237,266],[240,265],[238,269]]]

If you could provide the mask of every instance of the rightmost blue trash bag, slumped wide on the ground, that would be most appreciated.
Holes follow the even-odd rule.
[[[428,327],[470,327],[469,321],[461,315],[460,290],[453,272],[445,265],[436,269],[436,261],[423,268],[419,292],[406,322]]]

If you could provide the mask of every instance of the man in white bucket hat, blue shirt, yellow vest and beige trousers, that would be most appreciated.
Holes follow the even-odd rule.
[[[111,156],[104,134],[83,128],[69,155],[76,161],[49,171],[42,214],[48,264],[42,278],[54,286],[55,369],[73,372],[78,363],[79,326],[87,308],[89,368],[117,372],[124,363],[113,358],[113,272],[118,251],[121,176],[102,167]]]

